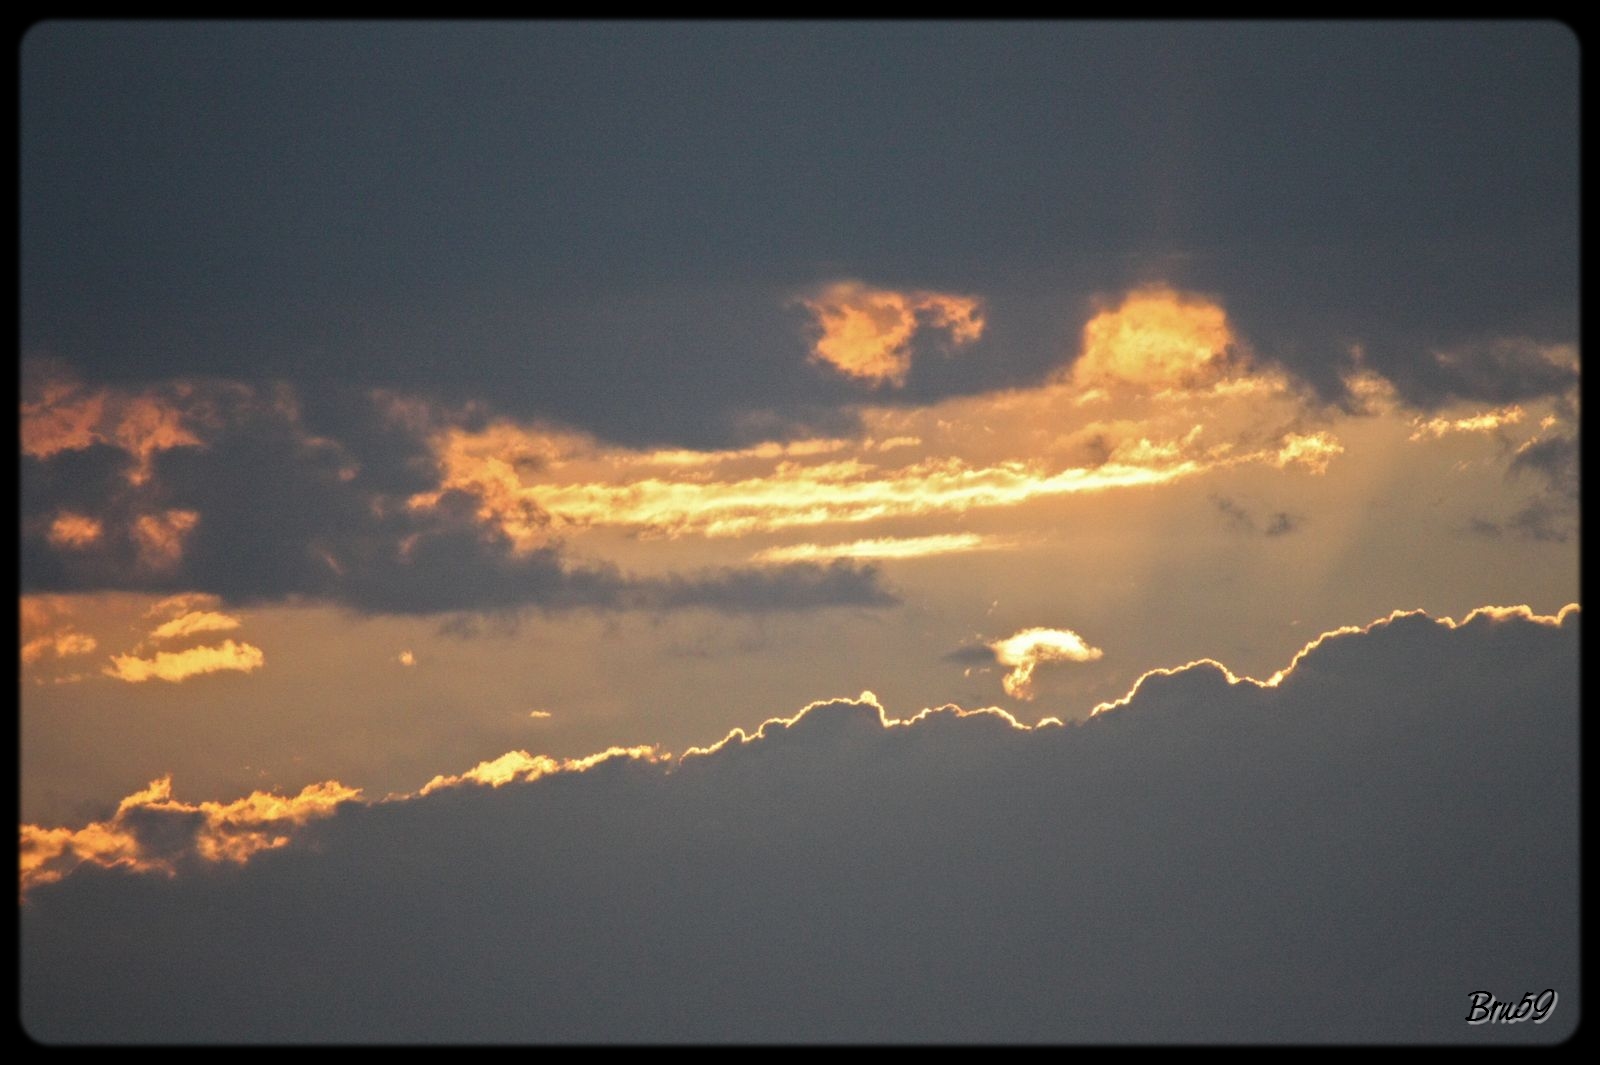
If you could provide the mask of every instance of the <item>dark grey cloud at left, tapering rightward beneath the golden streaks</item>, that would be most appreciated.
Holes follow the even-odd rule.
[[[78,406],[101,395],[106,408],[134,405],[86,389],[72,395]],[[152,453],[138,483],[139,467],[122,446],[50,451],[61,433],[37,433],[45,443],[22,457],[24,593],[184,590],[234,604],[306,598],[384,614],[526,606],[765,612],[898,601],[870,566],[634,577],[608,564],[573,564],[558,542],[518,555],[478,521],[477,501],[462,493],[445,493],[427,510],[406,505],[411,493],[437,486],[434,459],[421,432],[406,432],[370,398],[317,403],[320,421],[338,421],[342,440],[312,433],[286,389],[186,382],[160,403],[139,403],[165,411],[192,443]],[[339,417],[330,419],[330,409]],[[122,432],[98,425],[102,435]],[[64,512],[98,520],[102,534],[83,547],[53,544],[53,521]]]

